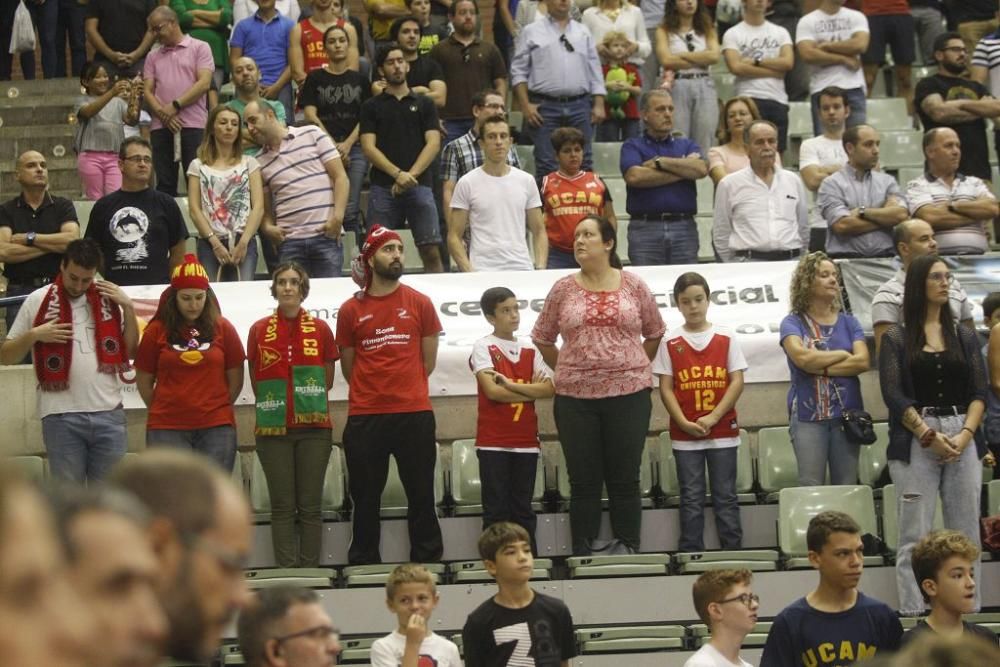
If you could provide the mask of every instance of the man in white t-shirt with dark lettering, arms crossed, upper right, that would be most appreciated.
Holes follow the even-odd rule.
[[[785,73],[795,65],[792,37],[764,19],[768,0],[745,0],[743,21],[722,37],[722,55],[736,76],[736,94],[753,99],[764,120],[778,127],[778,152],[788,141]]]

